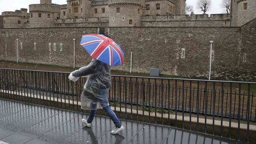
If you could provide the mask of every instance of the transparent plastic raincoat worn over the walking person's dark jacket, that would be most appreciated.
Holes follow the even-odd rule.
[[[69,79],[76,82],[80,77],[88,77],[81,94],[81,109],[95,110],[109,106],[107,93],[111,84],[111,66],[92,59],[86,67],[70,73]],[[97,106],[91,107],[91,103]]]

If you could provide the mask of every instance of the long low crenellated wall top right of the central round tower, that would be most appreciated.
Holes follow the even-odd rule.
[[[207,21],[207,20],[229,20],[230,14],[192,14],[192,15],[160,15],[141,16],[141,20],[148,21]]]

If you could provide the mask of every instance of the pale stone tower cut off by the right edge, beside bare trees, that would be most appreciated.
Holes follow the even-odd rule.
[[[256,0],[231,0],[231,26],[241,26],[256,18]]]

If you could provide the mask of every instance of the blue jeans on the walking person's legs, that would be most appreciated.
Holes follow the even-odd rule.
[[[108,89],[101,89],[99,91],[99,94],[101,96],[106,96],[106,99],[103,100],[103,99],[99,99],[99,103],[101,104],[102,106],[102,109],[105,111],[105,113],[108,114],[108,116],[112,119],[112,121],[114,122],[114,124],[116,125],[116,127],[121,127],[122,124],[121,122],[119,121],[119,119],[117,118],[116,114],[113,112],[113,110],[110,108],[109,105],[106,105],[108,103],[108,99],[107,99],[107,92],[108,92]],[[94,103],[94,104],[93,104]],[[91,123],[93,121],[93,118],[96,114],[96,107],[97,107],[97,104],[95,104],[95,102],[91,102],[91,111],[90,111],[90,115],[87,119],[87,122],[88,123]]]

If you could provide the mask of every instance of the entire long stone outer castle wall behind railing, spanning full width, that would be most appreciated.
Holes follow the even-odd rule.
[[[256,81],[256,20],[239,27],[111,27],[108,37],[125,53],[124,65],[114,69],[149,73],[160,68],[161,74],[200,77],[209,74],[209,41],[213,40],[212,78]],[[15,40],[23,42],[21,62],[73,66],[73,38],[76,38],[76,66],[90,62],[90,55],[79,45],[82,34],[99,34],[99,28],[7,28],[0,29],[0,59],[15,61]],[[107,34],[106,33],[106,34]],[[36,50],[34,50],[36,43]],[[51,51],[49,51],[51,43]],[[53,43],[57,50],[53,51]],[[63,51],[60,51],[63,43]],[[185,58],[182,56],[185,48]],[[247,60],[243,62],[243,54]]]

